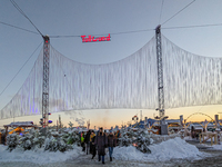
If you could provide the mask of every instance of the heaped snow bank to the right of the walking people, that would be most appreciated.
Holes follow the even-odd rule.
[[[179,137],[158,145],[150,145],[149,148],[151,154],[143,154],[133,146],[117,147],[113,151],[113,157],[122,160],[165,161],[174,158],[186,159],[202,156],[202,153],[195,146],[185,143]]]

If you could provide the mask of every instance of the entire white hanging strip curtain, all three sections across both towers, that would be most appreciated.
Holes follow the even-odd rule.
[[[222,104],[222,58],[190,53],[162,36],[165,108]],[[0,118],[41,114],[41,50],[21,89]],[[51,47],[50,112],[83,109],[155,109],[158,73],[155,38],[135,53],[111,63],[73,61]]]

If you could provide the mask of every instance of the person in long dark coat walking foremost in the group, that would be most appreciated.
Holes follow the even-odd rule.
[[[105,155],[105,147],[108,146],[108,138],[103,132],[103,128],[100,128],[99,134],[95,136],[94,144],[97,145],[98,148],[99,161],[101,160],[102,156],[102,164],[104,164],[104,155]]]

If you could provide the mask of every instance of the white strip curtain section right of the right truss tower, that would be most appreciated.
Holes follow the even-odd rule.
[[[221,105],[222,58],[188,52],[162,36],[165,108]]]

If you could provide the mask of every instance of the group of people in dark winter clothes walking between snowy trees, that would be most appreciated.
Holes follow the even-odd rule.
[[[109,148],[110,161],[112,161],[113,148],[117,146],[117,137],[112,130],[108,134],[103,131],[103,128],[100,128],[97,134],[89,130],[87,135],[82,131],[80,136],[82,151],[87,151],[87,155],[92,154],[92,159],[98,153],[98,160],[102,160],[102,164],[104,164],[105,148]]]

